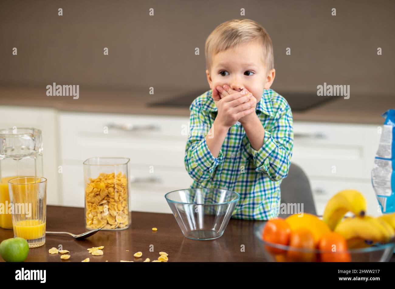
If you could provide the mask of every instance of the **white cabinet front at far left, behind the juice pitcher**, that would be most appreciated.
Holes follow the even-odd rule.
[[[43,138],[43,176],[47,178],[47,204],[60,204],[57,111],[43,107],[0,106],[0,128],[12,128],[13,126],[41,130]]]

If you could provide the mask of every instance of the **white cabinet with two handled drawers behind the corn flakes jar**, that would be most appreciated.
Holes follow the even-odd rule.
[[[192,183],[184,167],[186,117],[60,113],[62,204],[84,206],[83,161],[130,158],[130,208],[171,213],[164,195]]]

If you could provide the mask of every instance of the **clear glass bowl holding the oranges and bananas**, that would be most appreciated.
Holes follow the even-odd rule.
[[[267,260],[270,262],[320,262],[322,257],[328,256],[334,262],[388,262],[395,249],[394,242],[386,244],[376,243],[369,247],[349,249],[343,252],[275,244],[263,240],[262,232],[265,224],[257,225],[254,231],[255,236],[261,241]]]

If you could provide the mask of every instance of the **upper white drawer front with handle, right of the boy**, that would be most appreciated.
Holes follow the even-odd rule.
[[[370,180],[379,141],[374,125],[295,122],[292,161],[310,178]]]

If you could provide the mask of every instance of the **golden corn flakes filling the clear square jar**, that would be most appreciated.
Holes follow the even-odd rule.
[[[87,228],[117,229],[129,224],[128,182],[119,172],[101,173],[89,178],[85,188],[85,222]]]

